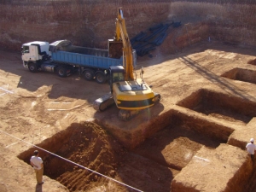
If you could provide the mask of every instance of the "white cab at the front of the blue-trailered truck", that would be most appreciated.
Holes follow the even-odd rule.
[[[30,43],[22,44],[22,61],[40,61],[44,55],[50,55],[49,43],[42,41],[33,41]]]

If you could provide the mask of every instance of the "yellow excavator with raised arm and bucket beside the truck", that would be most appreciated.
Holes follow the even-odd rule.
[[[137,65],[136,50],[131,47],[128,37],[125,18],[121,8],[116,19],[115,37],[108,40],[109,56],[119,58],[123,56],[123,66],[109,67],[109,84],[111,92],[96,99],[93,107],[97,111],[104,111],[112,104],[119,108],[119,119],[129,120],[139,111],[154,106],[160,101],[160,94],[154,93],[151,86],[143,80],[143,68],[140,78],[134,72]]]

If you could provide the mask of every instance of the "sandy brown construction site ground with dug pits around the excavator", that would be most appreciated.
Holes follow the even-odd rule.
[[[130,121],[92,107],[107,83],[30,73],[20,52],[0,55],[0,191],[255,191],[245,150],[256,139],[255,49],[205,41],[139,57],[137,75],[144,67],[161,101]]]

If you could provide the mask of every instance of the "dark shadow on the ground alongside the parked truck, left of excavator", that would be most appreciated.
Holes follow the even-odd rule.
[[[92,99],[94,101],[97,98],[97,96],[91,96],[95,90],[105,90],[105,92],[109,91],[109,86],[107,83],[97,84],[94,80],[86,81],[83,79],[83,77],[79,76],[79,73],[74,73],[67,78],[61,78],[55,73],[30,73],[26,70],[22,70],[22,76],[17,84],[17,88],[36,92],[37,95],[40,95],[42,93],[41,90],[44,90],[44,94],[47,94],[49,99],[57,99],[64,96],[89,101]],[[98,97],[100,96],[101,94],[99,92]]]

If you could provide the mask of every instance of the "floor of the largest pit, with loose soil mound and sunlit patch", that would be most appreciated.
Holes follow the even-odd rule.
[[[84,169],[88,167],[143,191],[160,189],[167,192],[171,189],[172,179],[188,165],[202,146],[217,148],[219,143],[226,142],[227,139],[208,137],[192,128],[188,129],[189,122],[186,120],[190,119],[186,119],[185,114],[178,111],[167,112],[161,119],[168,122],[167,126],[161,127],[162,130],[130,152],[119,144],[118,139],[113,138],[96,123],[73,123],[66,130],[37,145],[44,160],[44,175],[62,183],[70,191],[88,191],[92,188],[106,191],[131,190]],[[195,122],[202,124],[204,121],[198,119]],[[35,149],[28,149],[19,154],[18,158],[29,164]]]

